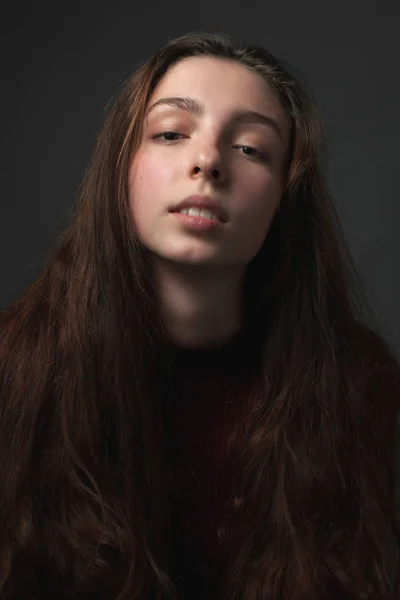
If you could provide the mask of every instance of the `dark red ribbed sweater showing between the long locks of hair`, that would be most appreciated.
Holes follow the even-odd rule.
[[[228,438],[243,430],[260,379],[254,337],[203,349],[172,348],[180,390],[165,407],[167,451],[178,486],[171,571],[185,600],[218,597],[229,548],[218,527],[236,474]],[[226,544],[226,543],[225,543]]]

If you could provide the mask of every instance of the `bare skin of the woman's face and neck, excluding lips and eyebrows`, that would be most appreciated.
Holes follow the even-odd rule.
[[[177,96],[194,98],[204,110],[159,105],[150,111],[130,169],[129,203],[154,256],[171,335],[182,343],[212,343],[240,327],[243,275],[285,185],[290,124],[263,79],[234,61],[190,57],[173,65],[148,108]],[[260,123],[232,124],[240,109],[273,118],[280,135]],[[154,138],[165,132],[174,133]],[[217,199],[227,222],[208,232],[186,229],[169,209],[192,194]]]

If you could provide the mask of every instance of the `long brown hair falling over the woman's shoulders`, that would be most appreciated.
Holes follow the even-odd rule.
[[[226,597],[395,598],[399,369],[363,322],[319,113],[288,65],[203,33],[169,41],[126,81],[70,225],[1,313],[0,597],[177,597],[159,410],[164,330],[127,174],[151,92],[189,56],[259,73],[293,130],[282,202],[246,279],[264,383],[227,505],[240,542]]]

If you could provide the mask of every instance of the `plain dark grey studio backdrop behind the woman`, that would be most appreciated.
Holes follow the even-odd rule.
[[[303,72],[329,182],[381,330],[400,358],[400,2],[23,2],[1,18],[0,307],[66,223],[104,108],[168,39],[226,32]]]

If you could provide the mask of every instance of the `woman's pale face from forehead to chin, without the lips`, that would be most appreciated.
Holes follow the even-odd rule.
[[[166,98],[191,99],[197,110]],[[267,118],[235,120],[238,111]],[[142,243],[181,264],[247,265],[282,196],[289,137],[289,119],[260,75],[210,57],[173,65],[150,98],[129,173],[130,210]],[[192,195],[215,200],[224,222],[199,229],[210,222],[171,212]]]

